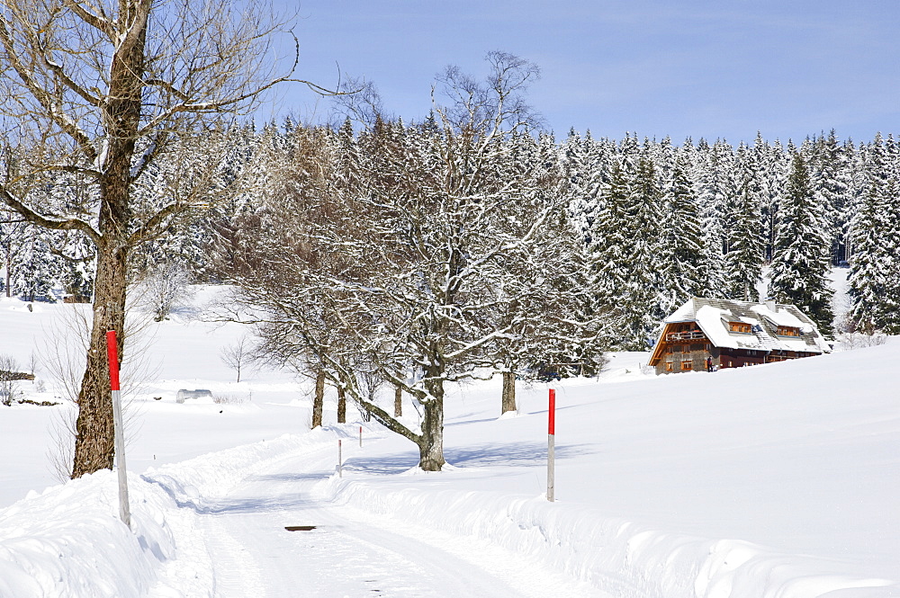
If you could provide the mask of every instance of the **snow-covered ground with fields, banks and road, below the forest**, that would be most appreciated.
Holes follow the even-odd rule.
[[[0,300],[0,354],[27,369],[72,309]],[[900,339],[662,378],[618,353],[554,385],[551,504],[547,385],[520,386],[504,417],[499,379],[454,388],[452,466],[424,474],[354,410],[336,424],[333,399],[310,432],[311,385],[289,373],[233,382],[219,352],[242,333],[189,312],[148,330],[132,530],[112,472],[54,477],[69,406],[0,406],[0,596],[900,596]],[[37,375],[44,393],[21,388],[52,400]],[[179,388],[225,402],[178,404]]]

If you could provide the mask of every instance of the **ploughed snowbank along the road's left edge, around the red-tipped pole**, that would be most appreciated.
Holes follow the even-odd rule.
[[[196,517],[252,472],[333,439],[330,430],[284,435],[129,474],[131,529],[112,471],[31,493],[0,510],[0,598],[211,597]]]

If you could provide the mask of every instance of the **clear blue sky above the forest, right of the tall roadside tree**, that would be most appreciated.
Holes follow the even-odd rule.
[[[365,76],[404,120],[428,113],[443,67],[482,76],[500,49],[541,67],[529,99],[557,138],[900,132],[900,0],[276,2],[298,14],[299,76]],[[292,86],[266,118],[329,110]]]

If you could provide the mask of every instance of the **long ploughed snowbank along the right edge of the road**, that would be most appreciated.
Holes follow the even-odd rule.
[[[447,475],[442,474],[442,475]],[[449,475],[454,475],[453,473]],[[318,488],[322,498],[353,507],[367,522],[389,527],[413,522],[536,556],[555,570],[612,595],[665,598],[813,598],[839,590],[879,588],[890,580],[835,576],[823,559],[784,554],[740,540],[707,540],[609,519],[545,496],[510,498],[483,492],[386,489],[337,477]],[[862,594],[841,594],[842,596]]]

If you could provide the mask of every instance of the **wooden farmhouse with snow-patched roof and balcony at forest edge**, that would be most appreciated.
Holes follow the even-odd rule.
[[[774,301],[690,299],[662,325],[649,365],[657,374],[741,368],[830,351],[815,324],[796,306]]]

